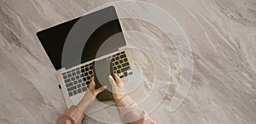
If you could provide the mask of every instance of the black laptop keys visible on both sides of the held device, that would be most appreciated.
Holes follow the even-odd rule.
[[[124,51],[114,54],[113,56],[109,56],[107,59],[112,59],[113,73],[118,74],[120,78],[124,78],[125,76],[132,74],[130,64]],[[67,70],[61,73],[61,75],[67,87],[69,97],[83,93],[87,91],[90,79],[93,76],[93,63],[81,65],[73,70]]]

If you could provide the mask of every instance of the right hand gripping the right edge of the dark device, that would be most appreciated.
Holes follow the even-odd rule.
[[[114,80],[113,80],[113,76],[114,76]],[[108,76],[109,82],[111,84],[112,87],[112,91],[113,91],[113,99],[115,101],[115,103],[118,103],[119,100],[125,98],[125,84],[124,82],[121,81],[121,79],[119,78],[119,76],[117,74],[113,74],[113,76]]]

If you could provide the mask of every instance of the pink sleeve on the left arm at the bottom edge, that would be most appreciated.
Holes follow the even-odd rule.
[[[56,124],[81,124],[83,119],[84,113],[73,105],[58,118]]]

